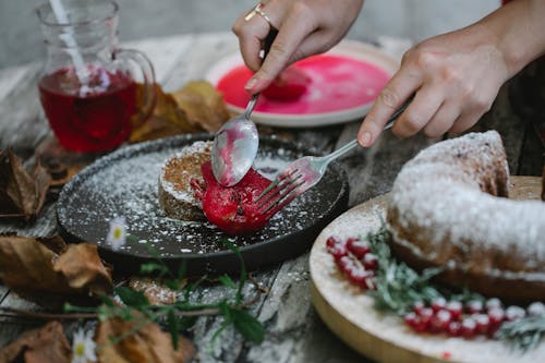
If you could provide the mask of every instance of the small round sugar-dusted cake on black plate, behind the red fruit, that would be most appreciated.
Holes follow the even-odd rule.
[[[211,142],[197,141],[169,158],[159,176],[159,204],[167,216],[181,220],[204,220],[201,199],[191,186],[203,183],[201,166],[210,159]]]

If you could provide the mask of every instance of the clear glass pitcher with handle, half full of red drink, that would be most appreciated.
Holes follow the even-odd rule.
[[[63,4],[61,13],[50,3],[37,8],[47,46],[38,82],[41,106],[66,149],[110,150],[150,114],[156,98],[154,69],[143,53],[117,47],[117,3]]]

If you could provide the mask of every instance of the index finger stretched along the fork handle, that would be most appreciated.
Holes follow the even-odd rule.
[[[358,140],[364,147],[374,144],[389,118],[421,86],[420,73],[400,69],[386,84],[375,100],[358,132]]]

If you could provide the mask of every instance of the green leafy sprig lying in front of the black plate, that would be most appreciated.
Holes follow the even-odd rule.
[[[202,283],[206,277],[189,285],[182,283],[185,277],[185,266],[182,265],[174,274],[159,258],[157,251],[148,245],[153,262],[141,266],[143,275],[153,274],[165,278],[166,286],[177,292],[179,300],[171,305],[154,305],[149,303],[147,298],[141,291],[136,291],[130,287],[121,286],[116,288],[117,295],[123,304],[117,303],[112,297],[100,297],[102,303],[98,306],[75,306],[71,304],[64,305],[65,312],[85,312],[95,313],[100,320],[106,320],[112,317],[120,317],[124,320],[135,320],[136,314],[140,313],[147,320],[157,324],[162,324],[167,327],[171,335],[172,344],[178,348],[180,334],[186,331],[196,322],[198,316],[204,315],[220,315],[223,317],[223,323],[214,335],[213,341],[227,328],[232,325],[245,340],[261,343],[264,339],[264,328],[259,320],[247,312],[250,305],[256,301],[254,299],[244,300],[243,288],[247,281],[247,274],[244,267],[244,262],[239,250],[228,240],[225,244],[239,257],[241,262],[241,275],[238,283],[235,283],[227,275],[220,276],[217,281],[231,290],[223,299],[210,303],[202,303],[195,300],[193,292]],[[257,292],[258,293],[258,292]]]

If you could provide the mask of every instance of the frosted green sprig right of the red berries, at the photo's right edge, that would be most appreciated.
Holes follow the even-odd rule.
[[[545,338],[545,315],[526,316],[504,323],[495,338],[505,340],[521,351],[532,350]]]

